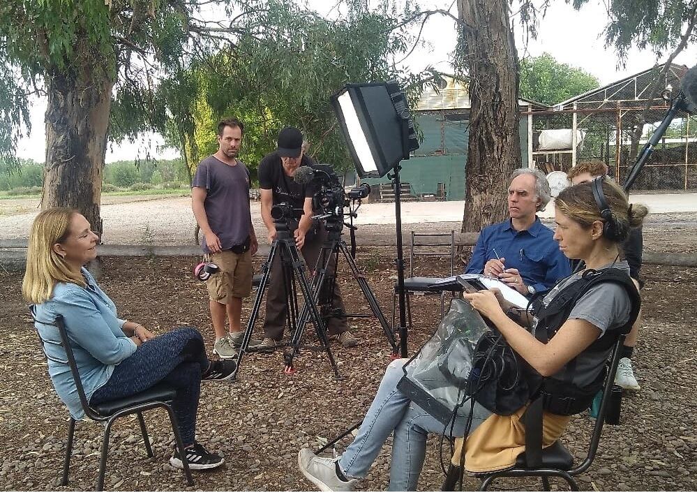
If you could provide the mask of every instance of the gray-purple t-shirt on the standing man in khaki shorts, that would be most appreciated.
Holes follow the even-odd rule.
[[[206,217],[223,250],[243,244],[250,232],[249,172],[244,163],[238,159],[236,165],[228,165],[208,156],[198,165],[191,186],[207,190]],[[201,247],[210,253],[206,242]]]

